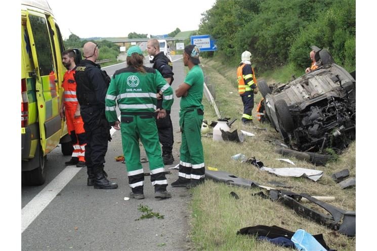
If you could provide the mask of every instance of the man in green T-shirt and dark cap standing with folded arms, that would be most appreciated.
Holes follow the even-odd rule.
[[[183,63],[189,72],[184,82],[176,90],[176,96],[181,97],[179,125],[182,132],[178,180],[173,187],[190,189],[204,183],[204,155],[201,144],[200,129],[203,121],[204,75],[199,61],[199,48],[188,45],[183,52]]]

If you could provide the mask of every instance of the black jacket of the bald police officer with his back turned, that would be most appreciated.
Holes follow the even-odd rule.
[[[82,120],[87,125],[101,123],[105,117],[105,97],[110,77],[99,64],[82,60],[76,68],[76,96]]]

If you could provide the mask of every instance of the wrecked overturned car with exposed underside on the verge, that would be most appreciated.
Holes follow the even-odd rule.
[[[316,52],[316,70],[276,87],[258,82],[264,114],[284,142],[300,151],[340,152],[356,138],[356,76]]]

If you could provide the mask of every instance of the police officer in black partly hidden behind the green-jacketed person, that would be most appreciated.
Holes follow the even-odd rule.
[[[162,77],[165,78],[169,85],[172,85],[174,80],[173,63],[169,58],[165,56],[163,52],[160,52],[160,44],[157,39],[150,39],[147,43],[147,52],[150,56],[153,56],[153,68],[158,70]],[[157,90],[158,92],[159,90]],[[163,98],[163,97],[162,97]],[[162,108],[162,99],[157,100],[157,109]],[[162,144],[162,160],[165,165],[173,164],[173,124],[170,118],[170,111],[166,110],[166,116],[156,120],[158,138]]]

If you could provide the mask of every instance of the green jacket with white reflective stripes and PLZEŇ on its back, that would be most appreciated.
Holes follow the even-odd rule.
[[[162,108],[170,110],[173,89],[157,70],[143,66],[144,72],[130,66],[115,71],[106,94],[106,118],[110,124],[117,121],[116,104],[121,112],[154,112],[157,89],[163,93]]]

